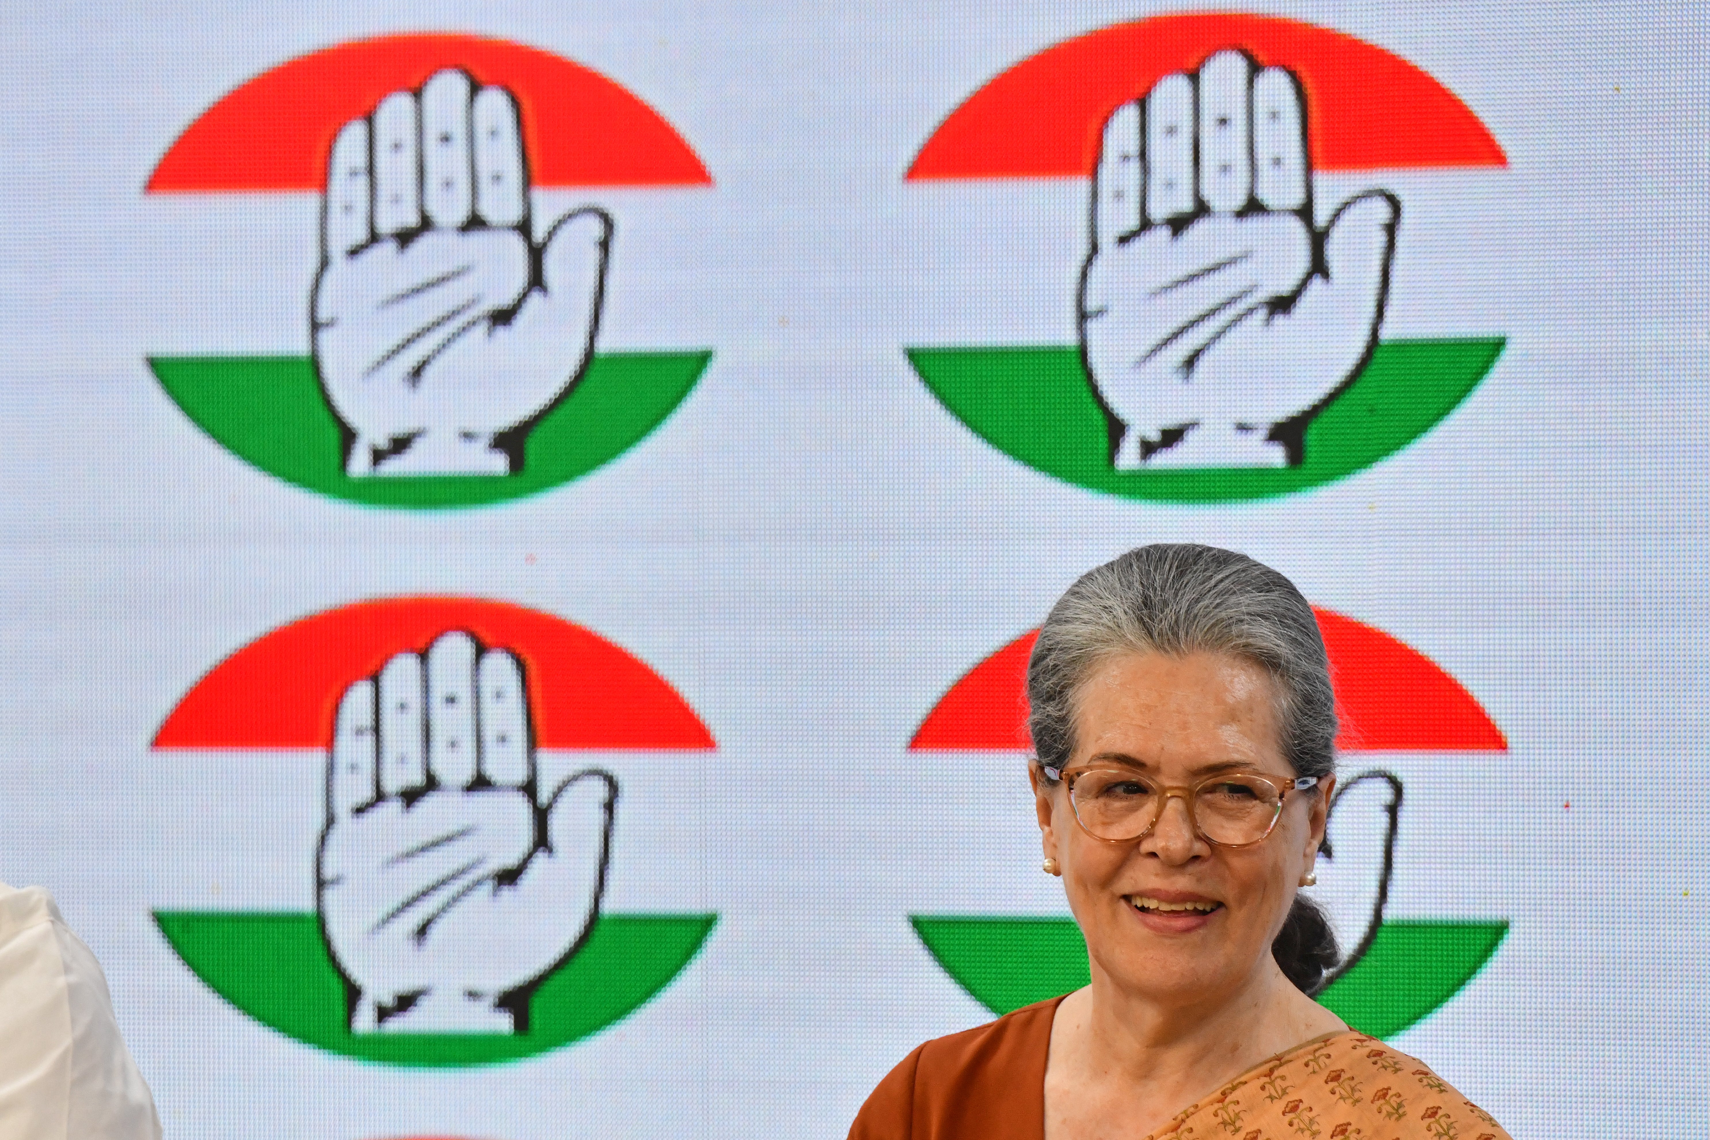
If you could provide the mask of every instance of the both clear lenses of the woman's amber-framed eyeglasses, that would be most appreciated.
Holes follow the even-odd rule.
[[[1158,819],[1163,784],[1118,769],[1093,769],[1074,779],[1070,800],[1081,826],[1100,839],[1134,839]],[[1264,776],[1219,776],[1194,791],[1194,820],[1212,843],[1257,843],[1271,834],[1282,791]]]

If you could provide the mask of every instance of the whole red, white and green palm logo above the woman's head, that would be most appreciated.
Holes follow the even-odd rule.
[[[908,173],[1088,181],[1077,344],[910,361],[988,443],[1098,491],[1209,502],[1339,479],[1436,424],[1503,342],[1385,338],[1402,200],[1324,202],[1315,171],[1503,164],[1448,91],[1337,32],[1233,14],[1093,32],[975,92]]]

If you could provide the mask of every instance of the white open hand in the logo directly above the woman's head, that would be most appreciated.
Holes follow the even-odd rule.
[[[1081,352],[1112,463],[1284,467],[1365,366],[1400,202],[1317,229],[1294,77],[1219,51],[1117,108],[1093,186]]]

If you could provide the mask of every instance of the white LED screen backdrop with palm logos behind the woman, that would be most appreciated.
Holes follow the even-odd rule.
[[[1710,1128],[1689,5],[0,31],[0,879],[169,1137],[843,1135],[1084,984],[1021,679],[1158,540],[1317,607],[1322,1000]]]

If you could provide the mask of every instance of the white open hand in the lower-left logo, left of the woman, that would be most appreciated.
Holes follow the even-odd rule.
[[[477,660],[479,656],[479,660]],[[316,868],[352,1032],[522,1032],[598,914],[617,781],[535,783],[528,692],[465,632],[339,702]]]

